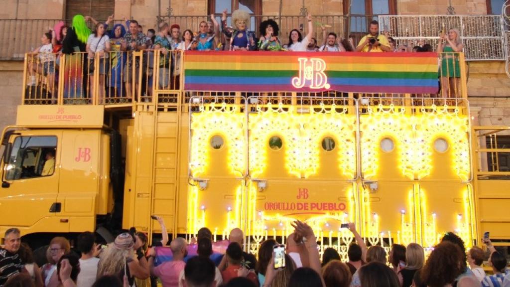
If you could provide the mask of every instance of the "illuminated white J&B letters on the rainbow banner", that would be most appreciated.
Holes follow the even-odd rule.
[[[300,89],[310,81],[311,89],[329,89],[330,85],[327,83],[327,76],[324,73],[326,70],[326,62],[319,58],[298,58],[299,61],[299,76],[292,78],[292,85]]]

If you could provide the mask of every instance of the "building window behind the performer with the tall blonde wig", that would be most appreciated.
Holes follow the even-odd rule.
[[[250,27],[251,31],[257,30],[259,18],[262,16],[262,0],[209,0],[209,15],[215,14],[218,22],[221,21],[221,13],[227,9],[227,25],[232,26],[231,17],[232,11],[243,9],[250,13]]]

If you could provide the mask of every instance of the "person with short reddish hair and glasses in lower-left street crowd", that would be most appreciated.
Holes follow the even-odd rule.
[[[49,247],[46,251],[48,263],[41,267],[42,279],[45,287],[57,287],[60,285],[57,262],[60,260],[60,257],[69,253],[70,250],[71,245],[64,237],[53,237],[52,241],[49,242]]]

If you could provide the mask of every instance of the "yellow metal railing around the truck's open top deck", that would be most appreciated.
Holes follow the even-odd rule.
[[[385,101],[413,101],[414,98],[430,98],[430,105],[443,105],[459,98],[467,98],[464,55],[438,54],[438,88],[435,93],[360,93],[345,91],[321,92],[250,92],[250,91],[213,91],[186,90],[184,59],[185,52],[145,50],[141,52],[109,52],[105,56],[96,56],[92,61],[86,53],[72,55],[26,54],[24,59],[24,78],[22,90],[23,105],[105,105],[107,107],[129,107],[136,104],[176,107],[189,102],[193,95],[217,97],[223,95],[260,94],[261,99],[292,95],[329,98],[376,97]],[[208,52],[203,52],[208,53]],[[232,52],[219,52],[228,53]],[[245,52],[246,55],[253,52]],[[293,53],[293,52],[279,52]],[[268,56],[276,56],[267,53]],[[317,55],[330,55],[317,52]],[[343,54],[348,56],[348,52]],[[402,54],[413,61],[413,54]],[[457,64],[444,64],[456,61]],[[443,64],[440,64],[443,63]],[[444,70],[447,69],[447,70]],[[448,72],[450,80],[439,78],[443,71]],[[328,73],[327,71],[325,72]],[[297,76],[297,71],[296,71]],[[412,84],[414,85],[414,84]],[[445,98],[440,102],[439,98]],[[448,100],[451,99],[451,100]],[[398,100],[400,99],[400,100]],[[437,102],[437,103],[436,103]]]

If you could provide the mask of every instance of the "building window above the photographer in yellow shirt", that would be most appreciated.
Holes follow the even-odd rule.
[[[377,20],[377,15],[396,15],[397,4],[396,0],[358,0],[344,1],[344,15],[350,14],[350,21],[348,21],[348,33],[367,33],[368,23],[372,20]]]

